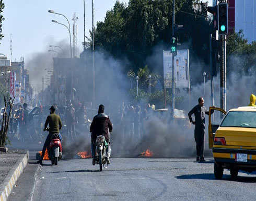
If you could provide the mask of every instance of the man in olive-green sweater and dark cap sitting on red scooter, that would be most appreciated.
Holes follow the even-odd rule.
[[[40,163],[40,164],[42,164],[43,156],[44,156],[46,148],[49,147],[49,145],[50,145],[52,135],[55,133],[59,133],[59,135],[60,135],[60,129],[62,128],[61,117],[59,115],[55,114],[55,108],[53,105],[50,108],[50,115],[46,118],[43,131],[46,131],[48,124],[49,124],[49,134],[46,137],[44,145],[43,145],[41,159],[39,161],[37,161],[37,163]],[[61,139],[61,136],[60,136],[60,139]]]

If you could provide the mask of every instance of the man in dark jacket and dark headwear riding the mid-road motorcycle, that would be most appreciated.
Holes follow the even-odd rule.
[[[110,164],[110,137],[109,132],[112,132],[112,123],[110,122],[109,116],[104,114],[104,105],[99,105],[98,115],[94,117],[94,120],[90,126],[91,132],[91,156],[92,156],[92,164],[95,165],[96,163],[96,138],[99,135],[103,135],[105,140],[108,143],[108,150],[107,150],[107,163]]]

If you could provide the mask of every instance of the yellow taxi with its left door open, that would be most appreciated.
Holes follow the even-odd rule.
[[[239,107],[228,113],[210,107],[210,114],[212,110],[223,115],[219,125],[213,123],[213,114],[209,116],[208,139],[209,148],[213,148],[215,178],[222,179],[224,168],[233,178],[239,170],[256,171],[256,107]]]

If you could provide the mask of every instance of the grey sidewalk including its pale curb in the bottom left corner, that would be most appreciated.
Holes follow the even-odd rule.
[[[25,149],[9,149],[0,152],[0,200],[7,200],[15,182],[24,171],[29,159]]]

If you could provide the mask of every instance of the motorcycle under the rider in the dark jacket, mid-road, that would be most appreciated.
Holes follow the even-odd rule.
[[[100,171],[102,171],[102,164],[103,164],[104,168],[108,168],[107,149],[108,149],[108,143],[105,140],[105,137],[103,135],[97,136],[97,139],[96,139],[96,163],[100,165]]]

